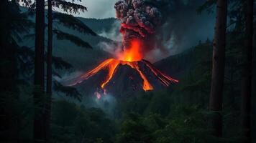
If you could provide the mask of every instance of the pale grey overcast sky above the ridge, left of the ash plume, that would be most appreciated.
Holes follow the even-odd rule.
[[[96,19],[115,17],[114,4],[116,1],[118,0],[82,0],[82,2],[78,4],[86,6],[88,11],[82,12],[76,16]]]

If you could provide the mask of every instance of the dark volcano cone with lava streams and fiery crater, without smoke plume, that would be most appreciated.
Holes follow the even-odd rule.
[[[140,41],[134,40],[129,49],[118,54],[118,59],[106,59],[91,71],[71,80],[68,85],[82,84],[86,89],[96,90],[96,97],[100,97],[99,89],[103,94],[122,94],[127,91],[150,91],[176,82],[178,80],[142,59]]]

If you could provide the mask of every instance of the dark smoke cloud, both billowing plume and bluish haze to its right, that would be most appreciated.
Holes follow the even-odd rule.
[[[212,38],[214,16],[198,14],[204,0],[119,0],[116,17],[121,20],[124,48],[130,39],[142,39],[150,61],[177,54]],[[152,58],[153,57],[153,58]]]

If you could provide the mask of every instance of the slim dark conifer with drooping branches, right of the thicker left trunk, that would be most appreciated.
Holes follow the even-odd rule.
[[[79,1],[79,0],[78,0]],[[88,44],[86,41],[83,41],[77,36],[67,34],[63,31],[60,31],[58,29],[52,30],[52,19],[55,17],[59,19],[63,19],[63,21],[60,20],[61,23],[63,23],[65,26],[71,26],[76,27],[75,29],[82,29],[82,32],[96,35],[88,26],[83,24],[83,22],[79,21],[73,16],[66,16],[66,14],[56,14],[58,16],[53,17],[52,16],[52,6],[58,7],[60,9],[63,9],[63,11],[70,12],[70,13],[78,13],[79,11],[87,11],[87,8],[85,6],[82,6],[80,4],[75,4],[68,1],[63,0],[48,0],[47,1],[47,7],[48,7],[48,39],[47,39],[47,85],[46,85],[46,91],[47,91],[47,104],[46,104],[46,114],[45,114],[45,127],[46,127],[46,142],[49,142],[50,140],[50,111],[51,111],[51,94],[52,94],[52,33],[54,32],[57,35],[58,39],[68,39],[69,41],[73,42],[74,44],[78,46],[83,46],[86,48],[92,48],[90,44]],[[71,21],[67,21],[65,17],[70,17]],[[55,83],[56,85],[61,85],[59,83]],[[60,86],[58,86],[60,87]],[[72,89],[77,94],[77,97],[80,96],[80,94],[76,91],[76,89],[73,89],[72,87],[63,87],[55,89]],[[66,90],[63,90],[67,92]],[[66,93],[67,95],[69,93]],[[78,98],[79,99],[79,98]]]

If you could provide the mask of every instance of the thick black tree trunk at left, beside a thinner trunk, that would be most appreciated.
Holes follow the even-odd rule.
[[[35,24],[35,117],[34,141],[45,142],[45,99],[44,90],[44,41],[45,41],[45,1],[36,1]]]

